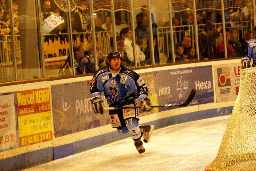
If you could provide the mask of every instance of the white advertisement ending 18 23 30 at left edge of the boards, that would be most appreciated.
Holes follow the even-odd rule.
[[[17,142],[14,94],[0,95],[0,150]]]

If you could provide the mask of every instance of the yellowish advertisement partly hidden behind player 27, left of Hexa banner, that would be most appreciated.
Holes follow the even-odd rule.
[[[148,87],[148,97],[150,98],[152,106],[157,106],[157,92],[156,92],[156,72],[140,73],[140,77],[144,80]],[[153,108],[150,112],[143,112],[140,110],[140,116],[157,113],[158,108]]]

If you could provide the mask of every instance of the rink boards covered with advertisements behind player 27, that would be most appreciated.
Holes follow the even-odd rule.
[[[154,108],[140,114],[140,124],[158,129],[230,115],[241,68],[240,59],[233,59],[136,70],[148,86],[152,105],[180,103],[192,88],[197,90],[188,107]],[[128,137],[111,127],[107,111],[94,114],[89,102],[91,78],[1,87],[1,170],[33,166]]]

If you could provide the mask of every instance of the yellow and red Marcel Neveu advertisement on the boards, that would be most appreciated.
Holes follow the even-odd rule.
[[[49,88],[16,92],[20,147],[52,140]]]

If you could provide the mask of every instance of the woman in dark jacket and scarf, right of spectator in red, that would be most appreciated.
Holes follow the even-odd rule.
[[[241,53],[242,45],[238,40],[238,30],[236,28],[231,27],[229,28],[229,32],[230,32],[230,39],[228,43],[232,45],[233,49],[236,52],[236,56],[242,56],[242,53]]]

